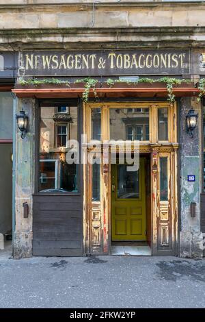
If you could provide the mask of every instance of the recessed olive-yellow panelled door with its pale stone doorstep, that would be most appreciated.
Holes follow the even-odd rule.
[[[111,165],[111,253],[151,255],[150,158],[141,157],[139,169]]]

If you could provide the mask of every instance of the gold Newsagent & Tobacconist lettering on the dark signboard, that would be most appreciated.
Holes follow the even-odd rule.
[[[87,75],[86,71],[95,70],[96,75],[99,72],[103,75],[100,70],[105,69],[105,71],[117,71],[122,72],[123,70],[132,71],[135,73],[137,69],[144,69],[145,73],[152,73],[154,69],[172,73],[174,69],[176,71],[184,68],[188,68],[189,62],[186,63],[187,53],[180,52],[154,52],[154,51],[137,51],[136,53],[131,51],[131,53],[124,53],[124,51],[116,53],[25,53],[24,64],[26,71],[34,70],[37,71],[49,71],[54,70],[69,70],[84,71],[82,75]],[[150,70],[150,71],[149,71]],[[169,71],[170,70],[170,71]],[[176,73],[175,71],[175,73]],[[180,71],[178,71],[180,73]],[[41,73],[39,73],[41,74]],[[30,74],[32,75],[32,73]],[[33,74],[35,75],[35,74]],[[38,75],[38,73],[36,73]],[[57,73],[55,73],[57,75]]]

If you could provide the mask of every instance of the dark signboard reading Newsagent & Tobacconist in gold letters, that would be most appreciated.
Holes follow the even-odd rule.
[[[26,76],[182,75],[190,73],[189,49],[27,51]]]

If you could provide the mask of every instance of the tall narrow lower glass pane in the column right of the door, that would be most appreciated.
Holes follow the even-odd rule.
[[[168,200],[167,158],[160,158],[160,200]]]

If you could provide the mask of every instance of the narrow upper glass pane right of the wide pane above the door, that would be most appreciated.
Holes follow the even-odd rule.
[[[158,140],[168,140],[168,108],[158,109]]]

